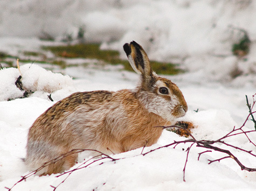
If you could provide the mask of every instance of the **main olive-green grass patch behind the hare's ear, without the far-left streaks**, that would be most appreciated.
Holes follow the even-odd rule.
[[[106,63],[117,65],[122,64],[125,70],[133,71],[127,60],[121,60],[119,52],[116,50],[100,50],[98,44],[78,44],[78,45],[67,45],[67,46],[44,46],[44,50],[50,50],[54,55],[58,57],[66,58],[90,58],[102,60]],[[61,62],[61,61],[60,61]],[[56,63],[61,68],[66,67],[63,63]],[[151,66],[157,74],[175,75],[182,70],[177,68],[177,64],[163,63],[151,61]]]

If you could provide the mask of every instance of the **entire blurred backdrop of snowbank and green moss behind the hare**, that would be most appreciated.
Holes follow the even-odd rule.
[[[255,88],[255,20],[251,0],[2,0],[0,61],[131,70],[122,46],[135,40],[157,73]]]

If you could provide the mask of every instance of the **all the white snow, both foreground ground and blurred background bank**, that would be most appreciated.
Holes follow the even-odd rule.
[[[18,57],[24,56],[24,51],[40,52],[42,45],[63,44],[60,40],[66,35],[76,38],[82,27],[86,42],[119,50],[126,59],[122,46],[135,40],[151,60],[180,63],[184,74],[164,77],[179,86],[188,102],[189,111],[181,120],[197,126],[192,130],[197,139],[218,139],[244,123],[248,115],[245,95],[252,103],[256,93],[255,5],[255,1],[238,0],[4,0],[0,2],[0,52]],[[244,57],[231,52],[242,35],[237,28],[246,30],[251,39],[250,52]],[[38,39],[46,34],[56,41]],[[54,58],[51,53],[45,54]],[[29,173],[22,161],[27,133],[47,108],[77,91],[132,89],[139,78],[120,66],[84,68],[79,65],[85,61],[81,58],[66,61],[70,67],[61,70],[36,62],[20,63],[20,71],[0,70],[0,190],[10,188]],[[45,69],[48,67],[54,72]],[[237,71],[240,76],[234,76]],[[15,85],[20,75],[24,90]],[[31,91],[29,97],[19,99],[25,91]],[[50,94],[54,101],[49,99]],[[244,130],[253,129],[253,122],[248,120]],[[249,137],[255,143],[256,134]],[[143,153],[184,139],[164,130],[157,144],[144,148]],[[244,135],[226,142],[255,154],[255,146]],[[195,145],[190,149],[184,182],[189,146],[170,146],[145,156],[141,155],[142,148],[112,155],[119,160],[105,159],[102,165],[75,171],[57,190],[255,190],[256,172],[241,171],[230,158],[208,164],[209,159],[225,156],[218,152],[206,152],[198,160],[198,153],[205,149]],[[231,150],[242,164],[255,168],[255,158]],[[81,155],[81,163],[83,157],[88,156]],[[54,174],[32,176],[12,190],[53,190],[50,185],[57,186],[65,178]]]

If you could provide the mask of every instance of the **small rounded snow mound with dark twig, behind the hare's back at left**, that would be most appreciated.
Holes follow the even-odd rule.
[[[70,76],[55,74],[36,64],[25,64],[17,68],[0,70],[0,101],[36,96],[47,98],[55,94],[60,99],[71,93],[73,80]],[[65,93],[66,92],[66,93]],[[64,97],[65,97],[64,96]]]

